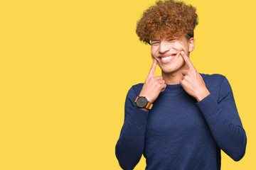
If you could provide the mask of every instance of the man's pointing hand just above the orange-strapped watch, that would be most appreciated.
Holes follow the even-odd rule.
[[[139,94],[139,96],[145,96],[150,103],[153,103],[159,94],[166,89],[166,84],[164,84],[165,81],[163,77],[154,77],[156,62],[156,59],[154,59],[149,71],[149,75],[146,77],[146,81],[142,86],[142,91]]]

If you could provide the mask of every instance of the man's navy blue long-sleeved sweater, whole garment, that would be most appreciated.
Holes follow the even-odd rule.
[[[220,169],[220,149],[235,161],[245,154],[247,137],[224,76],[201,74],[210,94],[196,101],[181,84],[169,85],[143,111],[135,106],[143,84],[129,89],[124,125],[116,145],[122,169],[146,158],[146,169]]]

